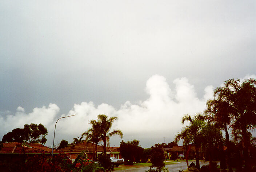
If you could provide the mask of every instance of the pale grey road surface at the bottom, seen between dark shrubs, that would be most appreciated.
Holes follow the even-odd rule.
[[[190,164],[191,162],[188,162],[188,164]],[[194,162],[196,163],[196,162]],[[201,163],[200,162],[200,167],[202,167],[202,165],[208,165],[209,162],[206,163]],[[178,172],[179,170],[185,170],[188,168],[187,163],[185,161],[182,162],[178,162],[176,164],[169,164],[169,165],[165,165],[165,168],[168,168],[169,172]],[[140,168],[129,168],[129,169],[125,169],[125,170],[115,170],[115,172],[122,172],[122,171],[138,171],[138,172],[145,172],[148,171],[149,167],[140,167]]]

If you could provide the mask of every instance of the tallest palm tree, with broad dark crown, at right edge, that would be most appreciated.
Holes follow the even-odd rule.
[[[241,131],[244,142],[245,169],[249,170],[249,140],[247,131],[256,129],[256,79],[230,79],[224,82],[223,87],[215,89],[214,94],[219,100],[227,101],[232,107],[232,133]]]

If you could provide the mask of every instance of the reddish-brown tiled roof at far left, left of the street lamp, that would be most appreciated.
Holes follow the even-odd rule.
[[[51,154],[52,149],[44,146],[41,143],[3,143],[0,154],[22,154],[23,148],[25,154]],[[53,154],[59,154],[60,151],[53,150]]]

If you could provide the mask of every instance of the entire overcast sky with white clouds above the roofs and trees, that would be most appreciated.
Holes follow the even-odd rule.
[[[125,142],[169,143],[231,78],[256,78],[256,1],[0,1],[0,139],[55,143],[117,116]],[[90,125],[89,125],[90,127]],[[112,137],[110,146],[121,138]]]

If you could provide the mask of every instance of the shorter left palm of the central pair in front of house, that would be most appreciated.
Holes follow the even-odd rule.
[[[87,132],[84,132],[82,136],[85,136],[84,142],[86,144],[92,142],[95,143],[95,152],[93,152],[94,156],[93,159],[97,159],[97,146],[98,143],[102,140],[101,139],[101,125],[99,120],[91,120],[90,124],[92,125],[92,128],[89,129]]]

